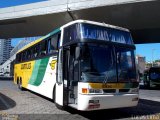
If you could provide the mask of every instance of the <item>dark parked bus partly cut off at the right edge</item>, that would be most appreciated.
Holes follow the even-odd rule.
[[[145,87],[160,87],[160,66],[151,67],[144,71],[143,80]]]

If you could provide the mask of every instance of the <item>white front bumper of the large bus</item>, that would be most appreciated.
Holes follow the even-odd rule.
[[[79,94],[78,110],[91,111],[137,106],[138,94],[93,95]]]

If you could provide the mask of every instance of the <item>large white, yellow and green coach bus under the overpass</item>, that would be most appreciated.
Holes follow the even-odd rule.
[[[80,111],[138,104],[135,45],[128,29],[75,20],[16,54],[14,83]]]

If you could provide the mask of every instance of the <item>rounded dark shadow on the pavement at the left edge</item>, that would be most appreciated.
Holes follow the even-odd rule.
[[[16,102],[6,95],[0,93],[0,111],[8,110],[16,106]]]

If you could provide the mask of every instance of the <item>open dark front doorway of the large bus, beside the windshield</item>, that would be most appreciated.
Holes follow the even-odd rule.
[[[63,104],[70,106],[75,104],[75,97],[77,96],[78,66],[75,60],[75,47],[66,48],[63,51]],[[75,105],[74,105],[75,106]]]

